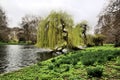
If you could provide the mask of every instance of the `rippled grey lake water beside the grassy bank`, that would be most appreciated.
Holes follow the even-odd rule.
[[[2,45],[0,46],[0,74],[11,72],[53,57],[44,49],[33,45]]]

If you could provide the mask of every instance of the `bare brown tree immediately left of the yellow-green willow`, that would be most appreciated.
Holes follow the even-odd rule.
[[[37,28],[40,21],[40,17],[26,15],[22,17],[21,27],[24,29],[24,35],[26,41],[36,42]]]

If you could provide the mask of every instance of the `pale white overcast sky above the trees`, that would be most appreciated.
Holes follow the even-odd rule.
[[[75,23],[87,20],[94,27],[106,0],[0,0],[9,27],[19,26],[26,14],[47,16],[51,10],[63,10],[73,16]]]

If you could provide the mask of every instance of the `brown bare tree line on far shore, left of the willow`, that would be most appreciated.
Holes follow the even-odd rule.
[[[36,43],[40,17],[26,15],[22,17],[19,27],[8,28],[7,16],[0,7],[0,42]]]

